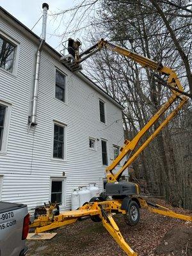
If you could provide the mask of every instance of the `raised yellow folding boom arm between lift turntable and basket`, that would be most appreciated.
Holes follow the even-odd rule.
[[[106,168],[107,178],[108,182],[116,182],[120,179],[120,176],[124,172],[124,170],[136,159],[136,157],[139,156],[139,154],[143,151],[145,147],[147,147],[148,143],[150,141],[154,140],[154,138],[157,136],[157,134],[163,129],[166,124],[175,116],[177,115],[178,111],[182,108],[182,106],[188,101],[188,97],[185,97],[182,95],[182,92],[184,89],[182,88],[182,85],[180,84],[179,78],[177,77],[177,74],[174,70],[168,67],[164,67],[161,63],[157,63],[156,61],[150,60],[144,56],[141,56],[139,54],[136,54],[135,52],[131,52],[123,47],[120,47],[115,44],[111,44],[107,42],[106,40],[101,39],[97,44],[93,45],[89,49],[87,49],[84,52],[81,52],[81,54],[77,54],[76,56],[76,63],[81,63],[82,61],[86,60],[96,52],[100,51],[100,49],[109,49],[113,52],[116,52],[118,54],[121,54],[133,61],[136,61],[136,63],[139,63],[142,67],[148,68],[150,70],[153,70],[154,72],[159,72],[160,74],[165,74],[168,76],[166,84],[171,88],[172,95],[170,99],[168,99],[167,102],[161,106],[159,111],[152,116],[152,118],[148,121],[148,123],[141,129],[140,132],[132,139],[132,141],[125,140],[124,147],[121,148],[121,152],[116,157],[116,159]],[[174,90],[175,89],[175,90]],[[167,109],[172,106],[172,104],[176,100],[180,100],[179,105],[165,118],[165,120],[159,125],[159,127],[156,129],[156,131],[153,132],[153,134],[143,143],[143,145],[134,152],[132,157],[128,159],[128,161],[124,164],[122,168],[116,173],[113,174],[113,169],[117,166],[117,164],[122,161],[122,159],[127,155],[131,154],[132,150],[136,148],[138,145],[138,142],[141,140],[143,135],[152,127],[152,125],[157,122],[160,116],[162,116]]]

